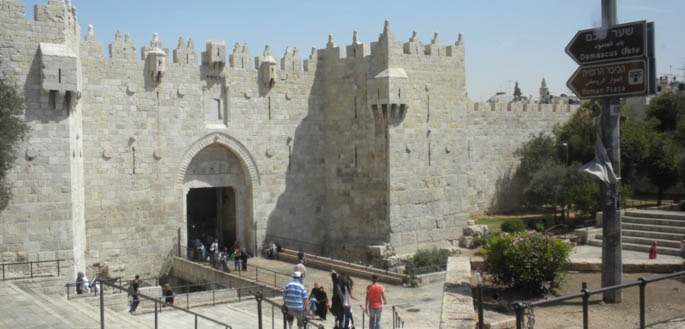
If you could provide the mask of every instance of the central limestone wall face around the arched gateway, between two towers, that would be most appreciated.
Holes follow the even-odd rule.
[[[185,234],[185,195],[199,186],[192,161],[213,144],[242,166],[242,246],[254,253],[267,236],[316,238],[324,138],[314,73],[280,72],[282,79],[265,88],[252,67],[167,62],[156,82],[146,63],[84,59],[88,263],[154,273],[177,229]],[[234,183],[205,177],[201,185]]]

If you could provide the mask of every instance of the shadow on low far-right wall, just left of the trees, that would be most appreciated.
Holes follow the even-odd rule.
[[[518,166],[511,166],[495,182],[495,196],[488,206],[488,214],[519,210],[523,207],[523,189],[527,182],[518,172]]]

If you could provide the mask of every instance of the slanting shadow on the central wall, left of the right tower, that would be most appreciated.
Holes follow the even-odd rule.
[[[264,246],[275,242],[288,249],[324,254],[327,224],[325,166],[325,113],[319,93],[322,77],[316,71],[312,89],[307,94],[307,113],[295,128],[294,136],[279,140],[275,147],[288,149],[285,190],[278,196],[269,214]],[[266,94],[259,73],[260,95]],[[293,98],[291,101],[297,101]],[[291,109],[283,109],[284,111]],[[283,143],[283,144],[280,144]],[[280,145],[279,145],[280,144]]]

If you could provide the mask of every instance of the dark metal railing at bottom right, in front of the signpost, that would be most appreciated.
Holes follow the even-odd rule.
[[[652,283],[652,282],[661,281],[661,280],[671,279],[671,278],[675,278],[675,277],[679,277],[679,276],[683,276],[683,275],[685,275],[685,271],[671,273],[671,274],[663,275],[663,276],[652,278],[652,279],[639,278],[635,282],[604,287],[604,288],[600,288],[597,290],[588,290],[587,289],[587,283],[583,282],[583,287],[579,293],[570,294],[570,295],[561,296],[561,297],[556,297],[556,298],[545,299],[545,300],[540,300],[537,302],[517,301],[514,303],[514,310],[516,311],[516,329],[522,329],[522,328],[532,329],[533,328],[533,326],[535,324],[533,307],[556,304],[559,302],[563,302],[563,301],[567,301],[567,300],[571,300],[571,299],[576,299],[576,298],[582,298],[582,300],[583,300],[583,329],[588,329],[589,328],[589,310],[588,310],[589,303],[588,303],[588,301],[590,299],[590,296],[596,295],[599,293],[604,293],[607,291],[630,288],[630,287],[634,287],[634,286],[640,287],[640,329],[644,329],[645,328],[645,318],[646,318],[645,290],[647,288],[647,284]],[[528,320],[527,324],[524,323],[524,320],[526,320],[526,319],[524,319],[524,317],[527,317],[527,320]],[[479,321],[482,321],[482,316],[479,316]]]

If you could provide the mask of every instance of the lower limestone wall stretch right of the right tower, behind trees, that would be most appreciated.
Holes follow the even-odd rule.
[[[578,109],[568,104],[474,103],[466,115],[469,213],[512,209],[520,200],[514,152],[539,132],[551,133]],[[517,192],[519,191],[519,192]]]

